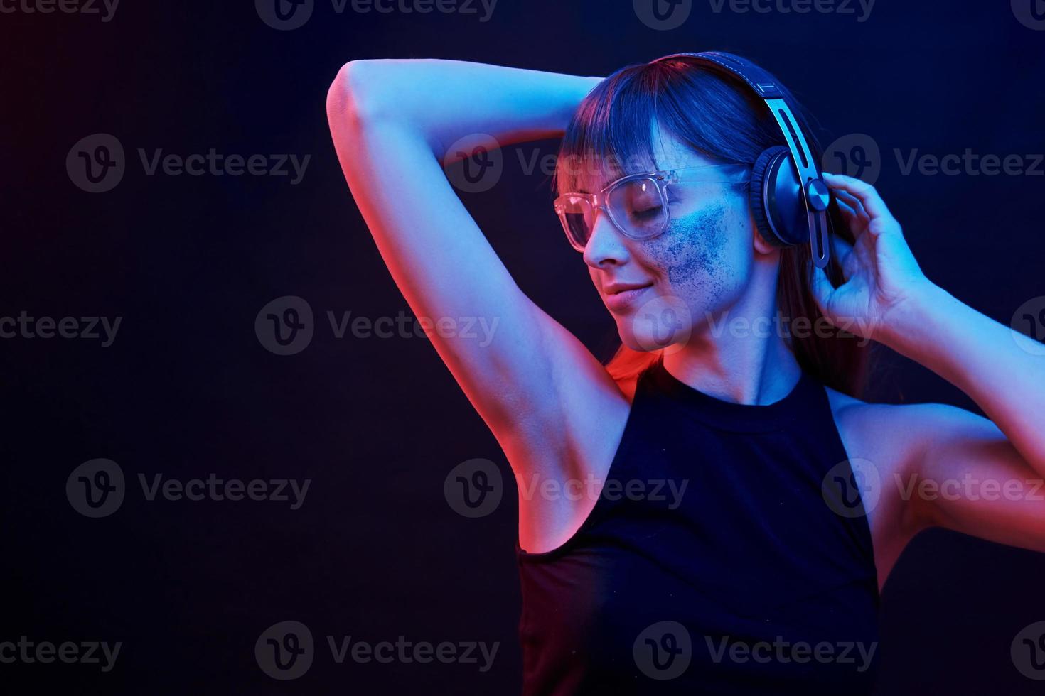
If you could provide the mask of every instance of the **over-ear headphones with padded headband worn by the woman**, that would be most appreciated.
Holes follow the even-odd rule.
[[[787,147],[774,145],[763,150],[752,165],[751,216],[767,242],[782,247],[809,242],[813,263],[826,267],[831,260],[827,216],[831,191],[775,78],[750,61],[719,51],[672,53],[653,63],[678,57],[739,77],[765,100]]]

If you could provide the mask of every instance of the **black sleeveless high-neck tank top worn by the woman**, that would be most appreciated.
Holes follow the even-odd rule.
[[[878,583],[852,477],[808,373],[753,406],[654,364],[581,528],[547,553],[516,543],[524,694],[870,693]]]

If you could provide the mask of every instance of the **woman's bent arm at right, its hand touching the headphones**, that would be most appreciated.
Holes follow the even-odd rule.
[[[986,414],[944,404],[865,409],[876,422],[867,439],[893,460],[883,486],[899,495],[912,530],[936,525],[1045,551],[1041,344],[926,280],[874,187],[835,174],[828,185],[857,242],[838,249],[844,284],[816,275],[826,315],[838,326],[856,318],[863,337],[932,369]]]

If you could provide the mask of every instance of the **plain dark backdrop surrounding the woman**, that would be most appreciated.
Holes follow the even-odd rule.
[[[20,0],[21,1],[21,0]],[[1027,0],[1029,3],[1030,0]],[[1019,4],[1019,3],[1017,3]],[[1040,4],[1040,3],[1039,3]],[[859,6],[856,6],[859,14]],[[482,9],[480,8],[480,15]],[[445,57],[603,75],[679,50],[764,64],[818,118],[825,144],[869,135],[877,186],[927,275],[1003,323],[1045,294],[1045,177],[903,175],[892,155],[1045,150],[1045,31],[1008,2],[879,0],[869,17],[738,14],[695,2],[654,30],[630,2],[501,0],[479,15],[343,14],[316,0],[295,30],[253,2],[123,0],[98,15],[0,14],[4,46],[0,315],[122,317],[115,341],[0,340],[3,379],[0,641],[122,641],[115,669],[0,665],[7,693],[461,693],[518,691],[514,491],[469,520],[443,496],[467,459],[510,472],[421,338],[338,339],[325,312],[408,310],[338,166],[324,102],[362,57]],[[114,135],[116,188],[73,185],[66,155]],[[310,154],[286,176],[148,176],[137,148],[182,155]],[[515,149],[492,190],[462,194],[522,289],[605,355],[610,317],[552,212],[549,182]],[[540,144],[540,152],[555,143]],[[394,186],[394,178],[388,185]],[[403,205],[410,205],[404,200]],[[305,298],[316,335],[266,351],[255,316]],[[1041,336],[1039,336],[1041,338]],[[940,345],[940,350],[947,350]],[[975,406],[883,352],[873,399]],[[126,499],[88,519],[66,479],[120,464]],[[147,501],[152,477],[311,479],[304,504]],[[882,694],[1035,694],[1016,633],[1045,620],[1045,556],[930,531],[883,595]],[[255,663],[270,625],[317,640],[307,674]],[[501,642],[493,668],[335,665],[326,635]]]

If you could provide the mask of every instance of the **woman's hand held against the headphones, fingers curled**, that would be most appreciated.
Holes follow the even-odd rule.
[[[813,267],[813,296],[834,326],[861,338],[887,342],[898,329],[910,298],[931,283],[904,239],[900,223],[870,184],[842,174],[823,173],[838,209],[849,222],[855,244],[832,236],[844,283],[832,287],[822,268]]]

